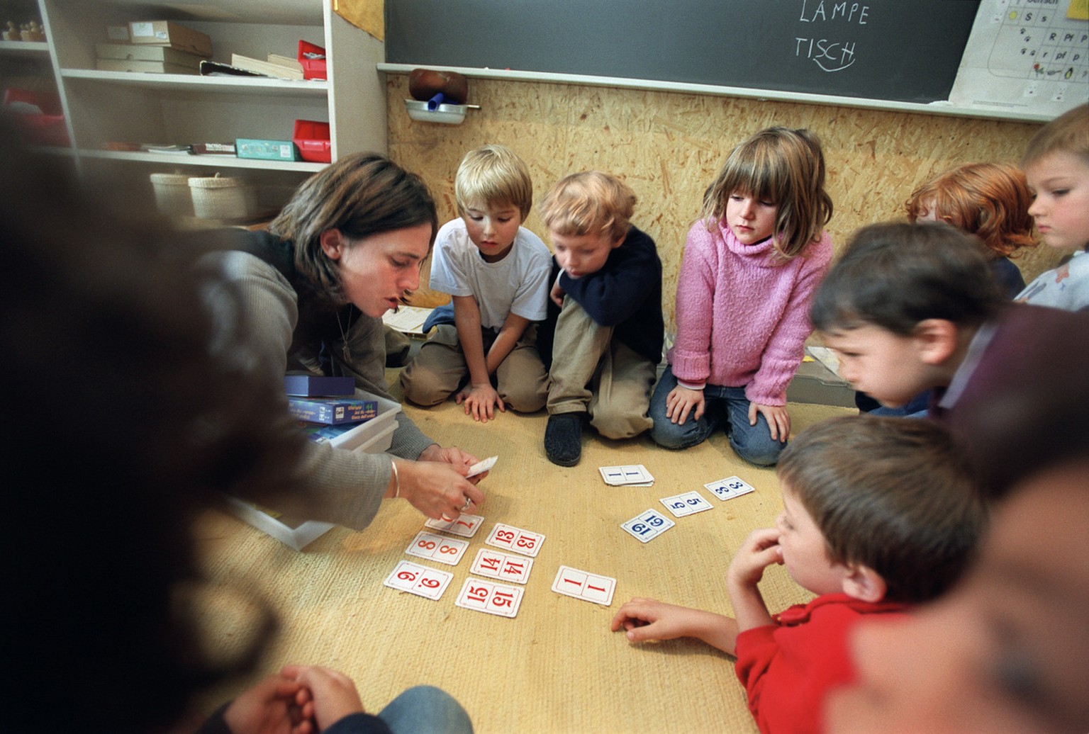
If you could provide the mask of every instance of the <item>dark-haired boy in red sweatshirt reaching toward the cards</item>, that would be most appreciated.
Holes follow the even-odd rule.
[[[969,467],[929,420],[816,424],[778,465],[783,512],[754,530],[726,575],[734,617],[636,598],[616,612],[633,643],[696,637],[737,657],[761,732],[820,731],[824,694],[854,676],[847,633],[900,615],[960,575],[984,521]],[[772,615],[757,585],[773,563],[818,595]]]

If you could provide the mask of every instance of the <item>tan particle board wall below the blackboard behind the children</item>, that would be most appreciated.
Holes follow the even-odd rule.
[[[513,148],[529,167],[535,201],[556,180],[579,170],[617,174],[638,196],[634,222],[658,243],[663,266],[662,307],[672,323],[673,294],[684,237],[703,189],[726,154],[770,125],[808,127],[824,147],[828,188],[835,204],[829,232],[836,247],[859,227],[903,219],[904,201],[929,178],[962,163],[1016,163],[1036,123],[939,117],[882,110],[759,101],[682,93],[582,85],[470,79],[469,110],[461,125],[415,122],[405,112],[408,77],[390,74],[389,152],[419,173],[439,205],[439,219],[456,216],[454,173],[465,151],[487,143]],[[526,227],[544,229],[530,212]],[[1059,254],[1041,246],[1017,260],[1029,281]],[[413,303],[448,297],[426,288]]]

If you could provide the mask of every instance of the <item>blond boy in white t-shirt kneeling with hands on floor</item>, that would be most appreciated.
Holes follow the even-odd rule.
[[[454,394],[487,423],[498,407],[533,413],[548,397],[535,321],[546,316],[552,253],[522,227],[533,206],[525,162],[501,145],[470,150],[454,179],[458,219],[436,235],[435,291],[452,296],[425,325],[437,332],[401,372],[405,397],[437,405]]]

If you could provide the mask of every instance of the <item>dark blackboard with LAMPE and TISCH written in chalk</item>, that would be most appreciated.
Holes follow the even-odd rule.
[[[386,0],[386,60],[949,98],[979,0]]]

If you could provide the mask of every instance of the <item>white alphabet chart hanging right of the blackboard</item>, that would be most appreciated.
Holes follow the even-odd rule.
[[[1089,101],[1089,0],[983,0],[950,101],[1049,117]]]

